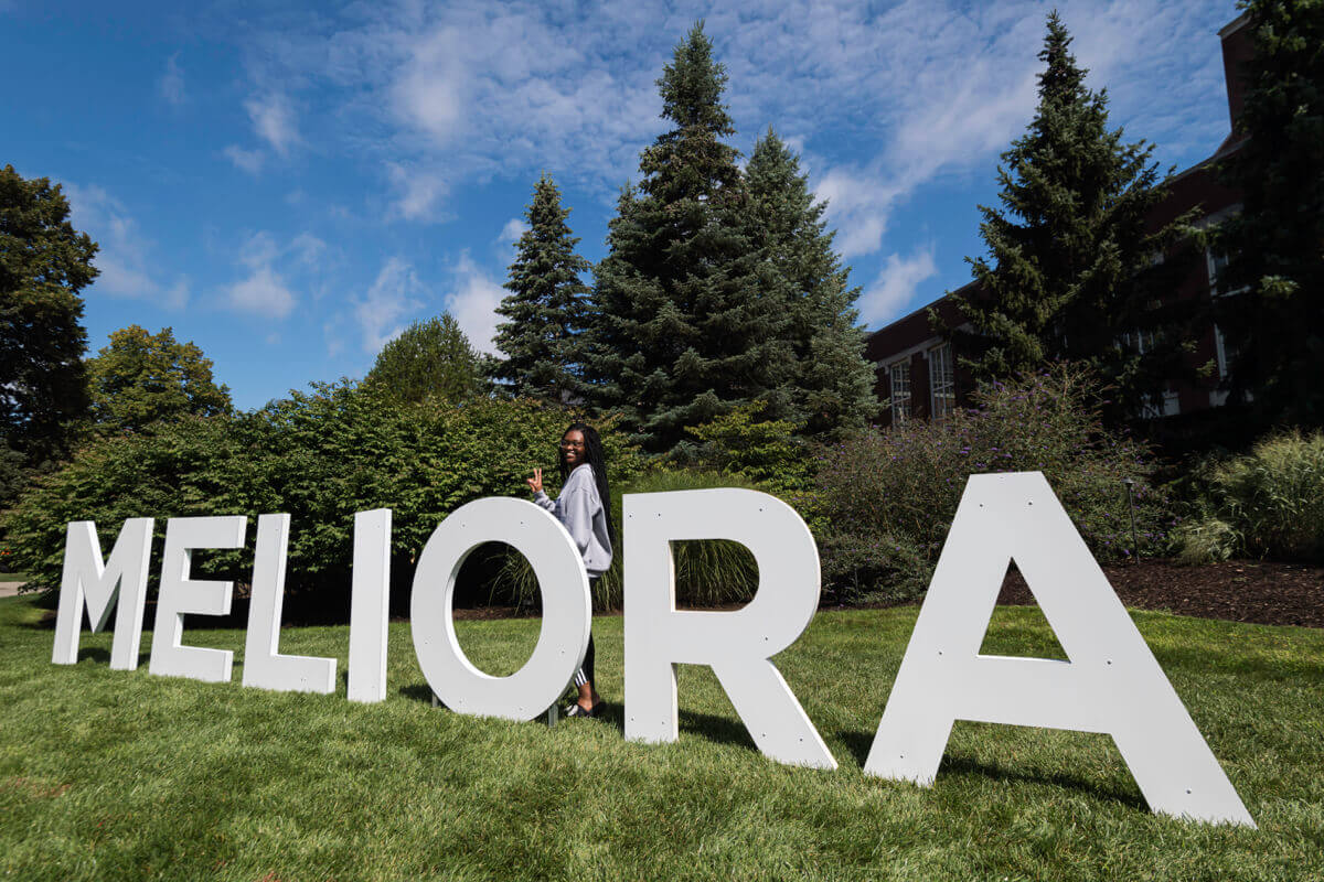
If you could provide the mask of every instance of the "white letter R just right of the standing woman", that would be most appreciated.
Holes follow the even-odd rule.
[[[625,529],[625,737],[677,738],[675,665],[711,665],[765,755],[835,768],[777,655],[818,608],[818,549],[793,508],[747,489],[629,493]],[[731,612],[678,612],[671,542],[731,540],[753,554],[759,590]]]

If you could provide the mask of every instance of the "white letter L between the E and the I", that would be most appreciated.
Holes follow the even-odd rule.
[[[335,659],[282,656],[278,651],[289,545],[290,516],[260,514],[249,628],[244,644],[244,685],[278,692],[328,693],[335,689]]]

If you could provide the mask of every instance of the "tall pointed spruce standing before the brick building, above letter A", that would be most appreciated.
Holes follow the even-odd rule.
[[[1156,307],[1174,270],[1155,262],[1181,223],[1147,230],[1162,198],[1153,147],[1108,130],[1107,93],[1086,87],[1070,45],[1050,13],[1038,110],[1002,153],[1001,209],[980,206],[992,264],[967,258],[978,284],[960,307],[973,333],[953,337],[977,380],[1050,360],[1090,364],[1113,385],[1107,415],[1117,419],[1141,413],[1181,372],[1182,335]]]

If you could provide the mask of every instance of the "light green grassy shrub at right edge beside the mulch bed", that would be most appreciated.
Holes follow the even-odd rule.
[[[1201,514],[1177,530],[1180,559],[1324,561],[1324,434],[1266,438],[1209,468],[1204,487]]]

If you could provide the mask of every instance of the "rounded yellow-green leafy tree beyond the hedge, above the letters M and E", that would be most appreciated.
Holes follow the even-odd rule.
[[[185,414],[230,411],[230,390],[212,380],[212,360],[169,328],[147,333],[138,325],[110,335],[110,345],[87,361],[93,418],[114,431]]]

